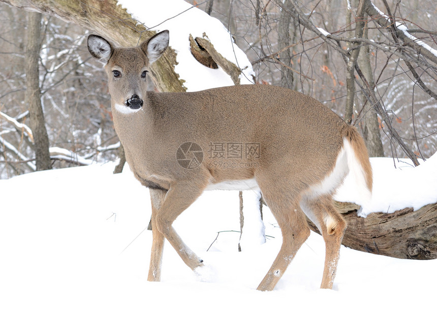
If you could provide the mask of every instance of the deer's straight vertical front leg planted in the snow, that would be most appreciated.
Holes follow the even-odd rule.
[[[162,203],[166,195],[166,191],[159,189],[149,189],[150,191],[150,201],[152,206],[152,251],[150,254],[150,266],[149,275],[147,280],[149,282],[159,282],[161,280],[161,264],[164,249],[164,235],[158,231],[156,216],[161,208]]]

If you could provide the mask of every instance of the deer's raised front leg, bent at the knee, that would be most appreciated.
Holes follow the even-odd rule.
[[[158,231],[170,242],[183,262],[192,270],[203,265],[203,260],[185,245],[172,224],[176,217],[188,208],[202,192],[203,188],[199,188],[199,183],[188,184],[177,182],[172,184],[161,207],[156,210],[154,221],[152,222],[152,227],[155,225]]]

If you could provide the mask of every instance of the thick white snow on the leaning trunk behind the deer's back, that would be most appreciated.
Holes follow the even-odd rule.
[[[193,38],[203,38],[205,33],[217,52],[243,70],[245,77],[240,77],[241,84],[253,83],[252,75],[255,76],[255,72],[251,62],[218,19],[181,0],[119,0],[118,3],[137,20],[144,22],[148,29],[170,31],[169,45],[177,51],[175,72],[185,80],[183,85],[188,91],[234,85],[223,69],[207,68],[193,57],[190,34]]]

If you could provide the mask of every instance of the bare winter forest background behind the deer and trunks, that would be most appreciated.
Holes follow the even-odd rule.
[[[251,60],[257,83],[301,91],[345,118],[346,102],[351,100],[347,63],[332,44],[286,14],[290,1],[283,2],[286,8],[283,10],[277,2],[266,0],[188,2],[198,4],[229,29]],[[412,35],[431,51],[436,48],[434,1],[373,3],[382,11],[391,10],[396,22],[412,29]],[[301,2],[299,8],[323,30],[322,34],[353,38],[357,5],[358,1],[319,0]],[[26,131],[29,125],[24,64],[27,15],[26,11],[0,3],[2,179],[35,170],[34,162],[29,161],[35,158],[34,144]],[[42,15],[41,24],[41,101],[53,168],[116,160],[119,145],[112,127],[105,73],[86,49],[90,32],[48,15]],[[381,100],[391,126],[405,146],[418,158],[429,158],[437,149],[435,63],[427,65],[424,58],[407,64],[405,59],[417,57],[408,47],[396,42],[376,22],[366,20],[364,29],[363,39],[367,41],[363,41],[357,55],[363,74],[374,81],[374,95]],[[342,41],[338,47],[347,50],[354,44]],[[437,54],[435,50],[433,53]],[[364,68],[369,69],[367,73]],[[376,129],[377,140],[379,135],[382,142],[383,150],[369,147],[371,156],[406,157],[387,123],[381,121],[381,116],[374,113],[376,109],[368,103],[361,81],[357,76],[352,78],[356,79],[352,123],[367,141],[375,140],[370,133]]]

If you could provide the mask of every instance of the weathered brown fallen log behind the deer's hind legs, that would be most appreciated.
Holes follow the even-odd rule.
[[[334,202],[348,227],[342,244],[367,253],[400,259],[437,259],[437,203],[414,211],[357,215],[359,205]],[[311,230],[319,233],[308,220]],[[320,234],[320,233],[319,233]]]

